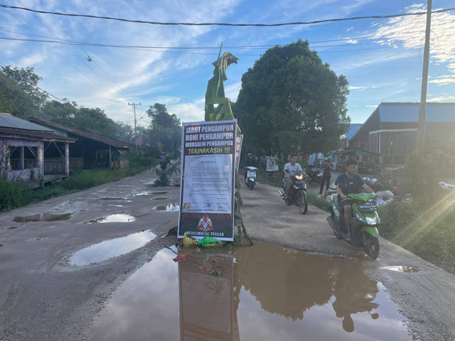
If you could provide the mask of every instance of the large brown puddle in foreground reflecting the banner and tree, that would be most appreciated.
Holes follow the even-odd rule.
[[[175,256],[163,249],[132,274],[89,340],[412,340],[360,261],[260,243]]]

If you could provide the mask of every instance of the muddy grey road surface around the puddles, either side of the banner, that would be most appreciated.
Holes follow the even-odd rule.
[[[83,340],[112,292],[157,251],[178,242],[175,236],[165,237],[178,212],[153,207],[178,202],[179,188],[153,188],[153,179],[147,171],[0,215],[0,340]],[[385,239],[380,239],[380,256],[371,261],[333,236],[326,212],[310,205],[308,214],[301,215],[298,207],[284,205],[277,188],[259,184],[241,193],[250,237],[328,256],[355,255],[368,276],[387,288],[417,340],[455,340],[454,276]],[[25,222],[24,217],[42,213],[70,216]],[[135,220],[88,223],[118,214]],[[80,249],[144,230],[157,237],[128,254],[84,266],[70,262]]]

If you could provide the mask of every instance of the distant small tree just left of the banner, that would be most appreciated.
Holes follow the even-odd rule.
[[[146,112],[151,117],[149,141],[164,151],[172,151],[181,144],[181,124],[176,114],[169,114],[166,105],[155,103]]]

